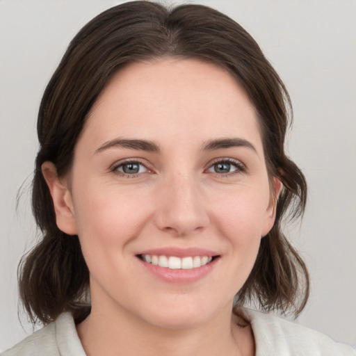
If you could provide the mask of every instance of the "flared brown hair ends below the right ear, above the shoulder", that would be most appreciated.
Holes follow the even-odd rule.
[[[309,296],[309,275],[305,262],[291,243],[273,227],[261,239],[257,259],[240,291],[236,307],[249,302],[266,312],[280,310],[297,317]]]

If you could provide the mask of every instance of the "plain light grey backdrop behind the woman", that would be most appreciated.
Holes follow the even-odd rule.
[[[81,26],[120,2],[0,0],[0,350],[31,332],[26,317],[24,329],[17,317],[16,269],[35,241],[29,183],[42,92]],[[175,1],[181,2],[195,1]],[[298,323],[355,346],[356,1],[199,3],[242,24],[289,89],[295,116],[289,152],[309,181],[302,227],[288,229],[312,277],[312,296]]]

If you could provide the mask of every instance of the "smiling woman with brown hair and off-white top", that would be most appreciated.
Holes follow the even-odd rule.
[[[355,355],[297,316],[281,232],[306,200],[289,96],[256,42],[203,6],[124,3],[72,40],[42,99],[20,293],[47,325],[4,355]],[[287,210],[289,209],[289,210]]]

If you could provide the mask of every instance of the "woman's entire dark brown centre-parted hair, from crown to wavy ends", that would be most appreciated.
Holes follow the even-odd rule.
[[[162,56],[198,58],[236,78],[259,115],[268,174],[280,177],[284,186],[275,225],[261,240],[252,273],[236,294],[236,305],[255,301],[260,309],[295,315],[305,306],[307,268],[281,232],[282,218],[287,212],[300,216],[307,196],[305,177],[284,153],[291,113],[284,84],[253,38],[229,17],[206,6],[168,9],[133,1],[104,11],[79,31],[42,97],[32,204],[43,238],[19,266],[19,293],[33,322],[49,323],[64,311],[80,321],[88,306],[89,272],[79,239],[56,225],[42,163],[53,162],[59,177],[69,172],[90,108],[111,76],[133,60]]]

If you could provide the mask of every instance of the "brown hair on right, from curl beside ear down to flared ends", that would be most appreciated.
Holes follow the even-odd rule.
[[[286,156],[277,170],[283,184],[277,200],[275,224],[261,239],[257,259],[240,291],[236,307],[256,302],[266,312],[280,310],[295,317],[302,312],[309,298],[309,273],[305,262],[282,233],[282,218],[302,215],[307,202],[307,181],[298,166]],[[288,208],[291,209],[287,211]],[[288,217],[288,215],[287,215]]]

